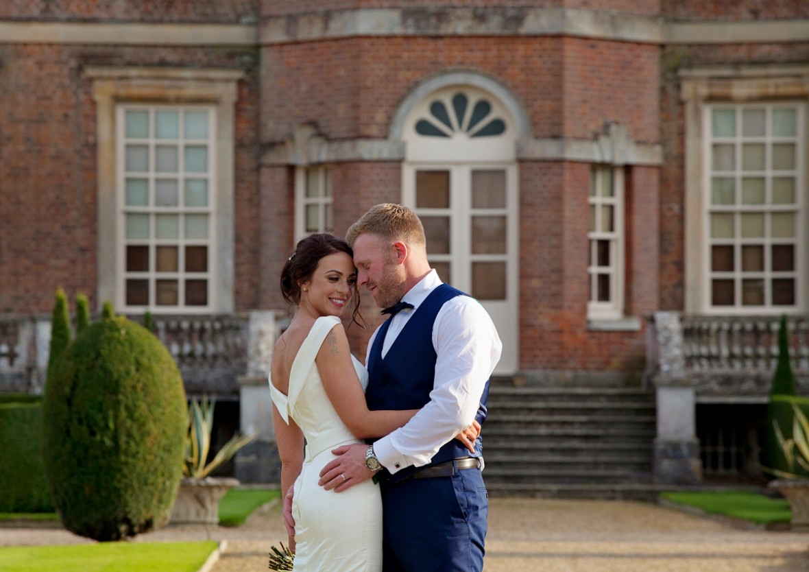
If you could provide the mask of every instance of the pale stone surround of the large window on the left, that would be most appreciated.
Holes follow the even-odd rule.
[[[207,68],[149,68],[87,66],[83,70],[92,82],[96,108],[96,146],[98,152],[98,290],[100,301],[112,301],[123,307],[120,265],[120,193],[116,132],[117,104],[210,105],[216,109],[214,140],[217,154],[211,158],[215,168],[215,194],[210,196],[216,212],[214,265],[216,273],[210,285],[214,307],[184,307],[183,313],[228,313],[235,311],[235,102],[242,70]],[[157,310],[157,309],[156,309]],[[157,311],[163,311],[162,309]],[[176,311],[176,310],[173,310]]]

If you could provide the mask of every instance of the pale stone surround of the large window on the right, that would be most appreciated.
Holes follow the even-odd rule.
[[[801,121],[803,137],[798,152],[798,162],[802,169],[797,192],[801,194],[803,212],[796,225],[799,229],[809,227],[807,205],[807,104],[809,104],[809,65],[769,66],[710,66],[680,70],[680,98],[684,102],[684,311],[690,314],[705,315],[778,315],[795,314],[807,311],[807,286],[809,286],[809,244],[807,235],[798,242],[796,265],[798,286],[796,306],[756,307],[746,310],[733,307],[711,307],[709,304],[705,260],[705,201],[710,200],[710,187],[706,187],[706,170],[709,159],[705,155],[706,131],[705,108],[716,104],[777,104],[797,102],[803,106]]]

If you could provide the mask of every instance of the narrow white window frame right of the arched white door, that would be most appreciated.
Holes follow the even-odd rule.
[[[612,173],[612,197],[602,196],[601,174],[605,171]],[[624,317],[625,299],[625,192],[624,169],[612,165],[593,165],[591,167],[590,192],[587,193],[588,211],[595,209],[596,227],[599,226],[599,207],[612,206],[612,231],[603,231],[599,228],[587,231],[587,277],[589,278],[589,299],[587,301],[587,320],[621,320]],[[595,187],[595,193],[593,188]],[[599,240],[609,241],[610,265],[606,267],[594,265],[597,260],[597,247]],[[609,300],[599,301],[598,275],[608,274],[610,277]]]

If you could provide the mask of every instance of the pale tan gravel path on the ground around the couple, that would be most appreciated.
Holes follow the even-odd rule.
[[[267,570],[286,539],[280,506],[238,528],[167,527],[135,541],[227,540],[213,572]],[[89,540],[57,528],[0,528],[0,545]],[[486,572],[809,572],[809,534],[767,532],[644,502],[493,498]]]

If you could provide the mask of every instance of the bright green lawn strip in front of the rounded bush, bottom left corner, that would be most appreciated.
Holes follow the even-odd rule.
[[[0,548],[3,572],[196,572],[217,543],[100,542]]]

